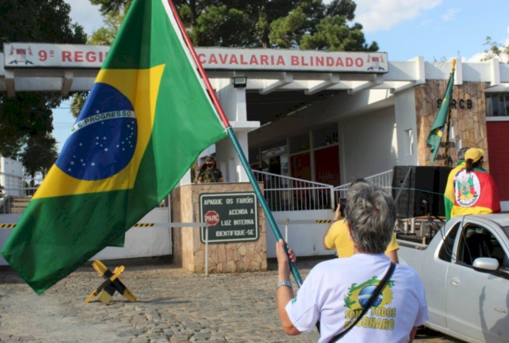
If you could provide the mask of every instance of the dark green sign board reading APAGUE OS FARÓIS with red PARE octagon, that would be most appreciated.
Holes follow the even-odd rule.
[[[252,192],[202,194],[200,218],[209,224],[209,243],[258,240],[258,202]],[[204,227],[200,236],[205,243]]]

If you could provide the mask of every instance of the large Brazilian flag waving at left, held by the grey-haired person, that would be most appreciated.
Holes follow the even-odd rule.
[[[2,255],[41,294],[122,238],[225,136],[167,0],[134,0]]]

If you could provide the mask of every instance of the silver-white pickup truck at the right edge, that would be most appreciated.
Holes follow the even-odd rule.
[[[426,326],[468,342],[509,342],[509,215],[455,217],[429,245],[398,243],[400,263],[426,287]]]

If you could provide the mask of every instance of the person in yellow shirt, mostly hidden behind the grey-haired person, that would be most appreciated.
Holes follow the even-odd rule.
[[[357,182],[369,182],[364,179],[357,179],[352,182],[352,184]],[[337,257],[350,257],[353,255],[354,246],[353,242],[349,239],[348,236],[348,228],[345,219],[341,216],[341,204],[337,205],[336,212],[334,213],[334,220],[332,225],[325,231],[323,236],[323,247],[326,250],[336,249]],[[392,239],[390,240],[387,249],[385,250],[385,255],[387,255],[391,261],[394,263],[398,263],[398,249],[400,246],[396,241],[396,234],[392,234]]]

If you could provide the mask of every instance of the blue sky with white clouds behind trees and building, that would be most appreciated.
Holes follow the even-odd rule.
[[[331,0],[324,1],[330,3]],[[461,57],[477,62],[484,56],[486,37],[509,44],[507,0],[356,0],[355,22],[362,24],[367,43],[376,41],[389,61],[423,56],[425,61]],[[73,22],[87,34],[102,26],[98,6],[88,0],[67,0]],[[59,151],[74,119],[69,101],[53,111],[53,136]]]

